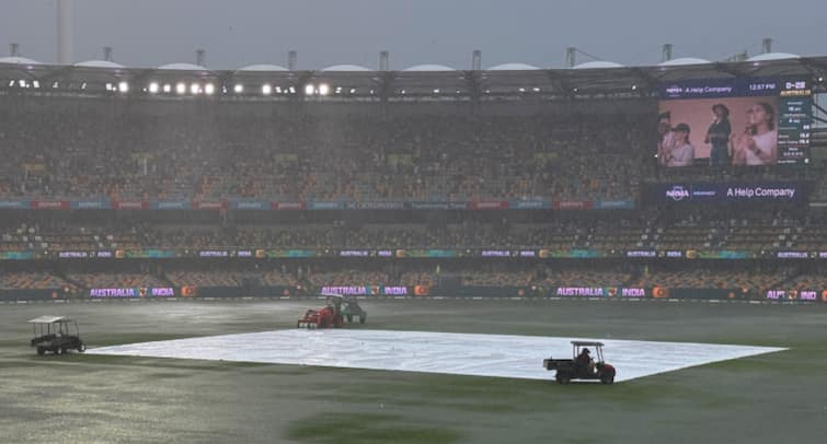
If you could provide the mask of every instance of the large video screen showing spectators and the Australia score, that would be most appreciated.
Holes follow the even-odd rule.
[[[662,83],[659,165],[808,162],[809,79],[708,79]]]

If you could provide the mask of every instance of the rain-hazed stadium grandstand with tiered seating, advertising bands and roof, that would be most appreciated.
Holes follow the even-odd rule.
[[[0,300],[827,301],[824,131],[779,149],[785,164],[656,155],[663,94],[680,90],[665,82],[795,77],[761,83],[786,85],[778,107],[824,90],[822,58],[747,65],[378,77],[0,63]],[[177,83],[193,87],[166,91]]]

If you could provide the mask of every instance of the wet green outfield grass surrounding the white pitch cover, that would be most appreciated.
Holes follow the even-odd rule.
[[[378,301],[352,328],[788,347],[612,386],[257,363],[37,357],[25,320],[90,347],[292,328],[318,301],[0,307],[0,430],[41,442],[822,442],[827,305]],[[611,350],[606,350],[611,361]],[[537,363],[541,365],[540,362]],[[622,369],[619,369],[622,372]]]

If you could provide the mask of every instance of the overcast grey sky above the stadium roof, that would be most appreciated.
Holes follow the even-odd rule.
[[[233,69],[287,65],[299,69],[355,63],[377,68],[390,51],[391,69],[441,63],[459,69],[481,49],[483,68],[505,62],[563,67],[575,46],[623,65],[674,57],[720,60],[747,49],[827,54],[825,0],[72,0],[73,59],[102,58],[134,67],[195,61]],[[0,55],[8,44],[23,56],[56,60],[56,0],[0,0]],[[588,61],[578,55],[578,62]]]

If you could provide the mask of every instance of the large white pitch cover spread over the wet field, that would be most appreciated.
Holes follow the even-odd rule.
[[[87,353],[552,379],[554,372],[543,369],[542,360],[571,358],[572,340],[604,342],[606,361],[618,372],[616,382],[785,350],[600,338],[295,329],[103,347]]]

